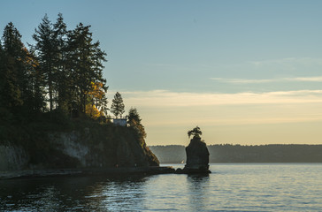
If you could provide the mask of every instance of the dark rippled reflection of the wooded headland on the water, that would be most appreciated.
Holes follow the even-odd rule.
[[[140,204],[147,178],[36,178],[0,181],[0,210],[113,210]]]

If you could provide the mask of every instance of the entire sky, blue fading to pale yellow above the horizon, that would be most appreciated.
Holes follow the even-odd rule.
[[[91,25],[111,104],[135,107],[147,144],[321,144],[322,1],[2,0],[24,43],[47,13]],[[3,31],[2,31],[3,32]],[[2,33],[1,32],[1,33]]]

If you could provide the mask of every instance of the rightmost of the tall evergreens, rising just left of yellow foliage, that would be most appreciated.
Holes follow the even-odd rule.
[[[86,113],[86,105],[93,101],[88,98],[92,82],[102,83],[104,92],[107,90],[102,74],[102,61],[106,61],[106,54],[99,49],[99,42],[92,43],[89,27],[80,23],[68,34],[68,65],[73,72],[73,100],[77,102],[78,110],[82,113]]]

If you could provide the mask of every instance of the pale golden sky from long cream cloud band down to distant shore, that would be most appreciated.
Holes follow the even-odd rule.
[[[322,90],[266,93],[123,91],[126,107],[142,115],[148,145],[187,143],[186,131],[202,127],[209,144],[318,144]],[[168,136],[171,134],[172,136]]]

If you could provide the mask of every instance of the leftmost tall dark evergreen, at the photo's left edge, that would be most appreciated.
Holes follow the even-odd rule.
[[[1,94],[2,105],[19,117],[31,117],[43,108],[42,76],[35,55],[21,42],[19,31],[9,23],[4,28]]]

